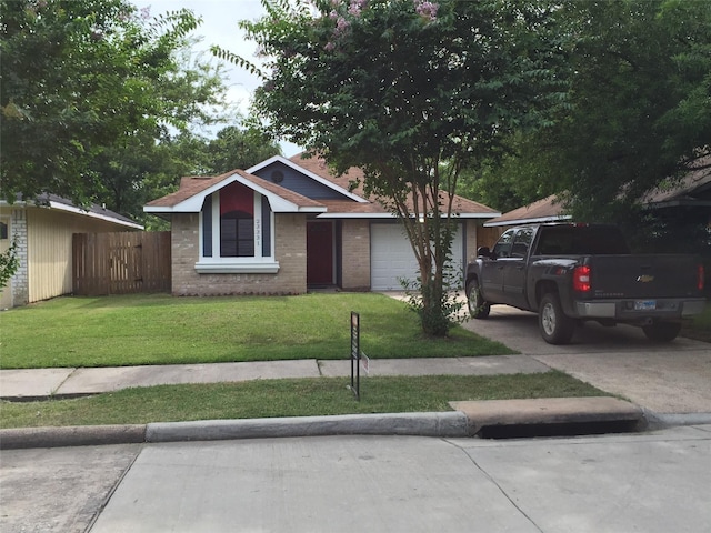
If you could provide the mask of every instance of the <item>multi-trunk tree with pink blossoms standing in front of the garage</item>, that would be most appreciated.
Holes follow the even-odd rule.
[[[445,334],[457,181],[560,103],[555,11],[505,0],[262,3],[264,18],[241,22],[267,58],[257,109],[337,172],[364,171],[367,192],[400,218],[412,244],[423,331]]]

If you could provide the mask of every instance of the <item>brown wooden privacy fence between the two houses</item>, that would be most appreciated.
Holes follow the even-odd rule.
[[[170,292],[170,231],[74,233],[73,293]]]

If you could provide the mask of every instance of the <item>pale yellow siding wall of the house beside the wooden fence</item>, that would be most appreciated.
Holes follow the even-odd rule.
[[[126,231],[119,224],[47,208],[28,208],[27,219],[30,302],[71,293],[73,233]]]

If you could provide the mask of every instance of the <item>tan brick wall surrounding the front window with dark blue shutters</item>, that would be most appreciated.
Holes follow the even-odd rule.
[[[302,294],[307,291],[307,222],[303,214],[274,217],[277,274],[198,274],[198,214],[173,214],[173,295]]]

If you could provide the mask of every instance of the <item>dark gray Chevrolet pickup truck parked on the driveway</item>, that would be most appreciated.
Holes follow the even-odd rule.
[[[540,224],[507,230],[492,250],[480,248],[467,266],[467,298],[474,319],[493,304],[539,315],[543,339],[565,344],[575,325],[641,326],[669,342],[682,318],[703,311],[703,265],[687,254],[630,254],[614,225]]]

